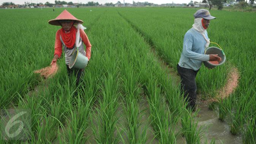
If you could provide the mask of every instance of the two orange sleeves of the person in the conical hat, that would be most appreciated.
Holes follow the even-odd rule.
[[[54,55],[58,55],[60,57],[60,55],[62,54],[62,43],[60,41],[60,30],[59,29],[56,32],[56,37],[55,37],[55,46],[54,46]],[[77,30],[76,30],[77,31]],[[83,43],[86,46],[86,57],[88,58],[88,60],[91,59],[91,43],[86,35],[86,33],[84,32],[84,30],[80,29],[80,37],[82,38]]]

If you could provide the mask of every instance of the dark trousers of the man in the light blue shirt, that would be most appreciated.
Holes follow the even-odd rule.
[[[194,71],[189,68],[183,68],[177,64],[177,70],[181,78],[181,92],[188,103],[187,108],[194,110],[196,105],[196,74],[199,70]]]

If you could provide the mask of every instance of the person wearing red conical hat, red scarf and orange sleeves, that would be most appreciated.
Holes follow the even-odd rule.
[[[56,19],[48,21],[51,25],[60,25],[61,28],[56,32],[55,46],[54,46],[54,57],[52,59],[51,65],[56,64],[57,60],[62,54],[62,47],[64,47],[65,52],[65,62],[67,65],[68,75],[70,76],[73,72],[76,74],[76,85],[79,84],[81,74],[83,70],[80,69],[70,69],[68,64],[72,57],[73,51],[76,49],[75,41],[83,42],[86,46],[86,51],[84,51],[84,46],[81,44],[77,46],[79,52],[85,55],[88,59],[88,62],[91,58],[91,43],[84,32],[83,21],[77,19],[67,10],[64,10]],[[74,26],[75,25],[75,26]],[[79,35],[76,36],[76,35]],[[77,38],[76,38],[77,37]]]

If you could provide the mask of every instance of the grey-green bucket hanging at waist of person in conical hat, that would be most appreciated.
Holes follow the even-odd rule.
[[[87,66],[88,59],[86,56],[81,54],[78,49],[76,49],[73,54],[72,58],[70,59],[69,68],[76,68],[76,69],[84,69]]]

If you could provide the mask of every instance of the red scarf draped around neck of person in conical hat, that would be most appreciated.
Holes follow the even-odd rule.
[[[69,31],[65,31],[63,28],[60,30],[61,38],[64,44],[68,48],[72,48],[76,42],[76,28],[72,26]]]

